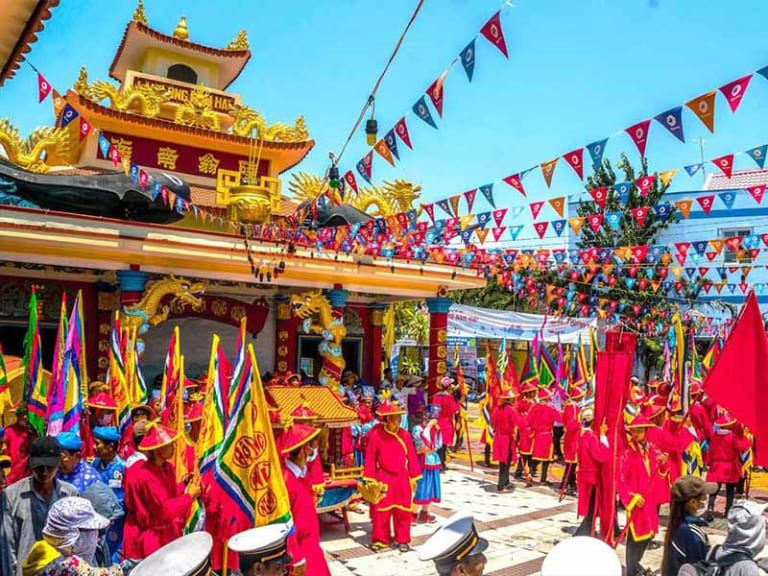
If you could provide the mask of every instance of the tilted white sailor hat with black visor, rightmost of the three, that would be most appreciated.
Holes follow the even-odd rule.
[[[432,560],[437,566],[452,566],[488,548],[471,514],[457,512],[445,521],[419,548],[419,560]]]

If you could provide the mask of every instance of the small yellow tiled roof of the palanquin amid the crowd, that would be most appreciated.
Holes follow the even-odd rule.
[[[326,386],[270,386],[269,392],[277,403],[280,422],[285,423],[296,408],[306,404],[317,413],[317,424],[342,428],[357,422],[357,412],[346,406]]]

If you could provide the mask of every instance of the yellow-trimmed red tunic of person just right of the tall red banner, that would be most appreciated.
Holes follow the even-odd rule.
[[[630,444],[619,464],[618,492],[629,514],[629,529],[635,540],[648,540],[659,531],[659,515],[653,498],[651,482],[657,473],[658,452],[650,443],[644,447]],[[638,498],[645,503],[640,506]]]

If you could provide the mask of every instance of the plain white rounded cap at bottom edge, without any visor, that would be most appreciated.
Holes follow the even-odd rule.
[[[602,540],[575,536],[552,548],[541,565],[541,576],[621,576],[621,562]]]

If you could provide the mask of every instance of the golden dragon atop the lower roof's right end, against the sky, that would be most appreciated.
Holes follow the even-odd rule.
[[[328,183],[314,174],[300,172],[291,176],[288,189],[293,193],[297,202],[314,200],[327,194]],[[338,192],[335,192],[337,199]],[[396,179],[394,182],[385,180],[381,186],[360,188],[360,194],[347,188],[345,201],[355,208],[374,217],[391,216],[413,208],[413,203],[421,196],[421,186],[407,180]]]

